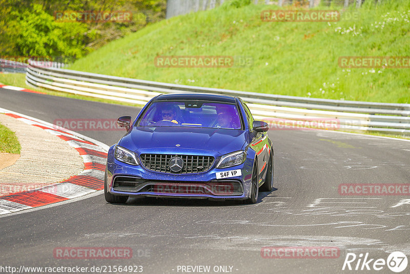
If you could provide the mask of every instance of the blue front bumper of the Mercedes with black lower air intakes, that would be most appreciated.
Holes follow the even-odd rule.
[[[112,149],[110,149],[110,152]],[[114,195],[155,197],[247,199],[252,178],[253,159],[231,168],[214,166],[201,173],[170,174],[148,170],[117,161],[108,153],[106,188]],[[241,169],[241,175],[216,179],[216,173]]]

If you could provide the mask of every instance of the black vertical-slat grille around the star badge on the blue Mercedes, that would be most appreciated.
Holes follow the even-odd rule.
[[[169,167],[171,158],[175,156],[183,161],[182,170],[179,172],[173,172]],[[142,165],[149,170],[174,174],[205,172],[212,167],[215,161],[213,156],[174,154],[141,154],[140,159]]]

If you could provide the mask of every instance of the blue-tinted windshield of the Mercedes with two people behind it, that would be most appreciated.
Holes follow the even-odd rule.
[[[242,128],[235,104],[209,101],[153,102],[138,126]]]

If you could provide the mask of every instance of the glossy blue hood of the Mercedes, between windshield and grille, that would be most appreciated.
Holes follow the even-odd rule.
[[[234,129],[133,127],[119,145],[137,153],[180,153],[198,149],[223,155],[240,150],[247,137],[246,131]]]

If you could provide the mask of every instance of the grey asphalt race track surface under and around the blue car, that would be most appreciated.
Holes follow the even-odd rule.
[[[121,115],[134,119],[139,111],[6,89],[0,89],[0,107],[50,123]],[[78,132],[110,146],[124,134]],[[342,266],[348,252],[357,256],[368,252],[368,258],[386,260],[390,252],[401,251],[410,258],[408,194],[338,192],[339,184],[410,183],[410,142],[317,130],[271,130],[269,136],[274,141],[275,189],[259,192],[255,205],[148,198],[118,205],[107,204],[101,192],[0,218],[0,264],[17,268],[138,265],[144,273],[182,273],[178,266],[189,265],[211,266],[211,273],[214,266],[228,266],[226,272],[233,273],[393,273],[387,266],[380,271],[349,271]],[[90,246],[130,247],[133,257],[53,257],[57,247]],[[336,246],[340,256],[262,258],[261,248],[266,246]],[[403,273],[409,269],[410,265]]]

